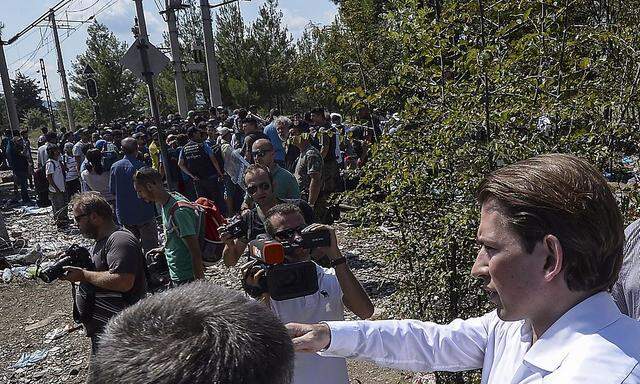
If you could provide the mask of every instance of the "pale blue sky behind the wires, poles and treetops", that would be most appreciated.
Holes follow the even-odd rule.
[[[16,33],[42,15],[49,7],[59,0],[2,0],[0,22],[5,24],[3,40],[8,40]],[[158,45],[162,41],[162,32],[167,29],[166,23],[158,14],[158,4],[164,0],[144,0],[145,18],[150,40]],[[218,0],[209,0],[216,4]],[[246,23],[252,22],[258,14],[258,8],[264,0],[240,1],[242,16]],[[284,21],[295,38],[299,37],[305,26],[314,24],[328,24],[337,13],[336,6],[329,0],[280,0]],[[106,7],[109,6],[109,7]],[[58,25],[65,24],[64,20],[86,20],[102,9],[96,17],[111,29],[118,39],[133,42],[131,27],[135,16],[135,5],[132,0],[73,0],[69,6],[56,13]],[[77,25],[77,24],[75,24]],[[67,73],[71,70],[71,62],[85,49],[87,24],[77,31],[70,33],[60,30],[60,40]],[[41,43],[42,41],[42,43]],[[34,52],[34,50],[41,48]],[[5,46],[5,55],[9,66],[9,75],[14,77],[15,71],[40,79],[36,71],[40,69],[39,60],[43,58],[49,78],[49,88],[53,100],[62,98],[60,77],[57,74],[56,53],[50,28],[35,28],[28,35],[12,45]]]

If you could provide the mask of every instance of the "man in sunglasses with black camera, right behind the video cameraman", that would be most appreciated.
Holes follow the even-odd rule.
[[[292,203],[300,208],[307,223],[314,223],[313,208],[303,200],[282,200],[274,195],[273,177],[269,168],[260,164],[251,164],[244,173],[247,193],[255,206],[241,215],[229,220],[220,227],[220,238],[225,243],[222,257],[228,267],[234,266],[247,249],[247,244],[265,233],[264,217],[271,208],[282,203]]]

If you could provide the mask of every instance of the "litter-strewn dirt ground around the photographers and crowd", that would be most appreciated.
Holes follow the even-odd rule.
[[[4,187],[4,188],[2,188]],[[4,191],[2,191],[4,189]],[[0,193],[6,197],[6,184]],[[0,195],[1,196],[1,195]],[[5,221],[12,236],[23,236],[28,243],[41,244],[49,249],[60,249],[71,242],[84,242],[77,233],[61,234],[52,224],[50,215],[25,216],[10,209],[3,209]],[[394,288],[385,277],[385,266],[379,260],[368,258],[357,239],[349,239],[348,228],[339,232],[345,254],[358,278],[371,295],[378,316],[384,317],[385,307]],[[350,241],[353,240],[353,241]],[[348,249],[350,248],[350,249]],[[1,270],[0,270],[1,272]],[[222,266],[210,267],[207,279],[221,285],[237,287],[237,271]],[[89,361],[89,340],[82,330],[66,333],[59,339],[47,341],[46,335],[56,329],[74,327],[71,287],[69,283],[55,281],[46,284],[38,280],[14,277],[9,283],[0,280],[0,383],[83,383]],[[386,314],[388,315],[388,314]],[[349,314],[347,314],[349,317]],[[27,330],[28,329],[28,330]],[[14,368],[24,353],[47,350],[47,356],[32,366]],[[432,382],[430,375],[383,369],[373,364],[348,361],[351,383],[416,383]]]

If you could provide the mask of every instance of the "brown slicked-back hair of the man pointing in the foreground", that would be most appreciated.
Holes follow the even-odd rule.
[[[618,278],[623,220],[602,174],[571,155],[548,154],[498,169],[481,183],[478,201],[495,199],[528,252],[550,234],[564,251],[572,291],[602,291]]]

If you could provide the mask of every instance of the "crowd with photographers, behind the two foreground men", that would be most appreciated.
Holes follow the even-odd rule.
[[[373,304],[329,226],[335,209],[328,198],[344,190],[342,172],[362,166],[382,134],[379,119],[366,110],[358,116],[363,124],[347,127],[323,108],[290,117],[272,109],[262,118],[252,108],[229,114],[218,107],[184,119],[167,116],[164,135],[150,121],[63,135],[43,129],[35,161],[27,132],[7,135],[3,153],[23,203],[34,203],[32,183],[35,203],[51,205],[60,230],[73,230],[70,212],[80,233],[95,241],[92,268],[65,266],[61,277],[76,287],[74,318],[84,325],[92,354],[99,356],[109,320],[123,309],[151,291],[159,296],[204,279],[209,259],[202,201],[218,215],[219,259],[242,265],[245,291],[281,323],[342,320],[344,307],[370,317]],[[304,248],[303,237],[313,231],[328,233],[330,245]],[[249,250],[260,239],[293,245],[286,263],[313,261],[313,295],[275,300],[260,290],[265,271]],[[158,261],[166,266],[168,284],[150,272]],[[283,371],[293,374],[293,382],[348,382],[345,359],[298,354],[295,361],[293,370]],[[329,376],[317,377],[319,369]]]

